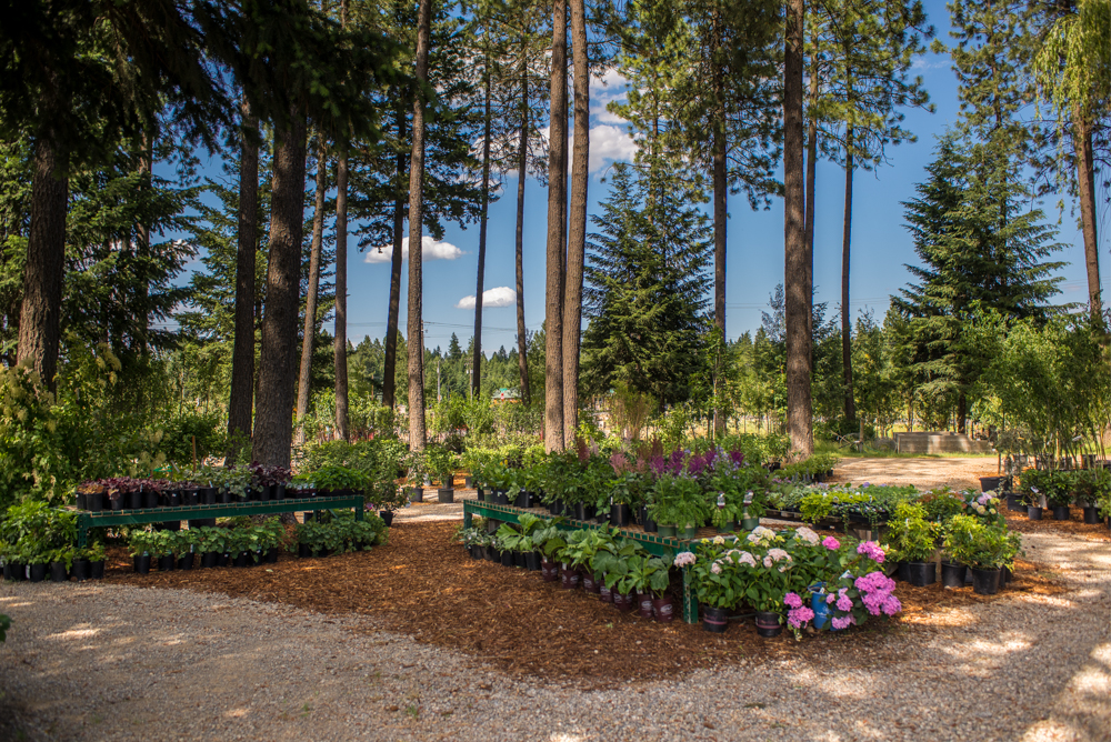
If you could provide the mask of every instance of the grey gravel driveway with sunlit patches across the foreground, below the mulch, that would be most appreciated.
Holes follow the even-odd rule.
[[[1052,534],[1027,550],[1070,592],[847,635],[822,662],[604,691],[538,686],[366,619],[7,583],[0,740],[1109,740],[1111,551]]]

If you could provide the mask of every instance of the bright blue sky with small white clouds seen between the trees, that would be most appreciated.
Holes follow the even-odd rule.
[[[930,22],[939,38],[950,39],[949,14],[941,0],[927,0]],[[934,113],[908,110],[903,126],[918,136],[918,141],[890,150],[890,164],[873,172],[858,171],[853,189],[851,302],[853,314],[865,308],[881,320],[888,297],[907,283],[904,264],[914,263],[915,255],[909,233],[903,227],[902,201],[914,195],[914,184],[923,179],[924,168],[932,159],[935,136],[958,119],[957,80],[948,56],[928,54],[917,64],[931,100]],[[634,148],[623,132],[620,120],[604,110],[604,102],[620,94],[618,76],[610,73],[597,80],[591,90],[591,179],[588,213],[600,212],[608,186],[601,182],[605,168],[614,160],[631,159]],[[216,171],[216,166],[210,166]],[[507,349],[516,342],[516,309],[511,300],[514,285],[513,238],[516,230],[516,178],[503,186],[502,198],[490,207],[487,241],[486,288],[497,292],[501,301],[488,294],[483,310],[482,344],[487,353],[500,345]],[[1042,204],[1050,221],[1058,219],[1057,197]],[[840,301],[841,230],[844,204],[844,173],[834,164],[819,161],[814,218],[814,284],[815,301],[828,301],[834,311]],[[524,312],[529,330],[543,322],[544,250],[547,240],[547,191],[532,180],[526,183],[524,222]],[[742,195],[729,200],[729,241],[727,263],[727,333],[735,338],[760,325],[760,312],[767,309],[768,297],[783,280],[783,203],[775,200],[767,211],[751,211]],[[331,229],[332,225],[327,227]],[[1087,280],[1083,270],[1083,247],[1075,219],[1065,210],[1059,227],[1058,241],[1068,245],[1060,259],[1070,264],[1063,269],[1061,301],[1084,301]],[[1107,245],[1105,230],[1101,247]],[[447,244],[434,245],[432,255],[424,255],[426,344],[447,348],[452,332],[466,345],[474,322],[473,294],[478,267],[478,225],[463,230],[449,227]],[[1105,254],[1105,252],[1104,252]],[[351,251],[349,264],[348,333],[358,343],[363,335],[381,338],[386,329],[389,297],[389,261],[367,262],[368,254]],[[374,257],[370,257],[376,260]],[[383,255],[384,258],[384,255]],[[1102,261],[1103,282],[1108,280],[1108,262]],[[406,263],[402,275],[408,272]],[[408,288],[403,280],[401,317],[406,315]],[[467,302],[466,298],[471,301]],[[504,305],[491,305],[500,304]],[[460,305],[461,304],[461,305]],[[402,319],[402,329],[404,321]]]

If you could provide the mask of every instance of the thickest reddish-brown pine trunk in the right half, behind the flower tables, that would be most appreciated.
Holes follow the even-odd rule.
[[[787,314],[787,429],[791,449],[813,451],[810,393],[810,269],[805,243],[802,122],[803,0],[788,0],[783,59],[784,275]]]

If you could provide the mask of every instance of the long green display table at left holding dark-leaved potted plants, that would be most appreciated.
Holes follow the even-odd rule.
[[[103,510],[99,513],[82,510],[77,518],[77,543],[78,547],[84,548],[89,529],[107,525],[141,525],[143,523],[164,523],[167,521],[236,518],[238,515],[272,515],[274,513],[317,512],[318,510],[340,510],[346,508],[354,508],[354,518],[361,521],[363,497],[361,494],[352,494],[342,498],[300,498],[268,500],[267,502],[232,502],[216,505]]]

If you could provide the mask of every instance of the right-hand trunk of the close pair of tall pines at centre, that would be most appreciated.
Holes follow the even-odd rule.
[[[571,54],[574,64],[574,156],[571,213],[563,292],[563,442],[579,428],[579,347],[582,329],[582,270],[587,254],[587,187],[590,158],[590,61],[583,0],[571,0]]]

